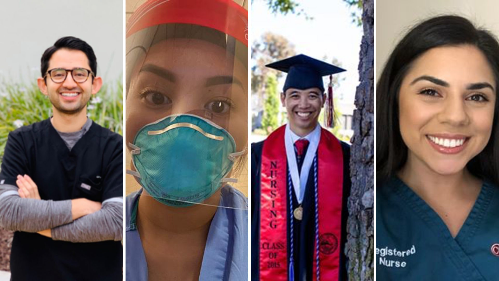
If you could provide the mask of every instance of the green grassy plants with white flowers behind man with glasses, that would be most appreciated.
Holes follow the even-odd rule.
[[[92,96],[87,114],[96,123],[123,134],[123,83],[119,78],[106,83]],[[0,82],[0,159],[8,133],[14,129],[49,118],[52,104],[36,83]],[[1,160],[0,160],[1,163]]]

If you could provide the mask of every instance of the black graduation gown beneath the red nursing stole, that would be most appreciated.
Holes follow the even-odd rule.
[[[259,280],[259,244],[260,244],[260,169],[261,153],[263,142],[251,143],[251,280]],[[346,222],[348,218],[347,199],[350,195],[350,146],[341,142],[343,150],[343,206],[341,217],[341,241],[340,241],[340,271],[339,280],[347,279],[346,272]],[[289,168],[289,167],[288,167]],[[313,165],[308,174],[308,180],[303,197],[303,218],[294,219],[294,278],[298,281],[312,280],[314,239],[315,239],[315,202],[314,202],[314,184],[313,184]],[[287,194],[288,192],[286,192]],[[298,206],[296,195],[292,192],[293,209]],[[289,202],[289,195],[287,195]],[[287,209],[289,211],[289,208]],[[289,241],[290,222],[287,221],[287,237]],[[288,260],[289,260],[289,242],[288,242]],[[315,270],[315,269],[313,269]]]

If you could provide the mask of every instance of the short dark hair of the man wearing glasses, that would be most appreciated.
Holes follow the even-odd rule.
[[[97,58],[93,52],[92,47],[80,38],[66,36],[55,41],[54,45],[49,47],[43,52],[41,56],[41,76],[43,77],[48,70],[48,61],[52,54],[59,49],[71,49],[71,50],[81,50],[84,52],[88,58],[88,65],[90,65],[90,70],[97,75]]]

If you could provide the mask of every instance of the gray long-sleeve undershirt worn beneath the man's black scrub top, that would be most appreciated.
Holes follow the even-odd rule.
[[[79,131],[59,135],[71,148],[88,131],[87,121]],[[19,197],[18,188],[0,184],[0,226],[14,231],[38,232],[51,229],[52,239],[70,242],[96,242],[122,239],[123,197],[102,202],[99,211],[73,221],[71,200],[38,200]]]

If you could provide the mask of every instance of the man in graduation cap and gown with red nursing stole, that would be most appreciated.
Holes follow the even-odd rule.
[[[289,122],[251,144],[251,279],[344,280],[350,148],[318,118],[322,76],[345,70],[303,54],[266,66],[287,72]]]

